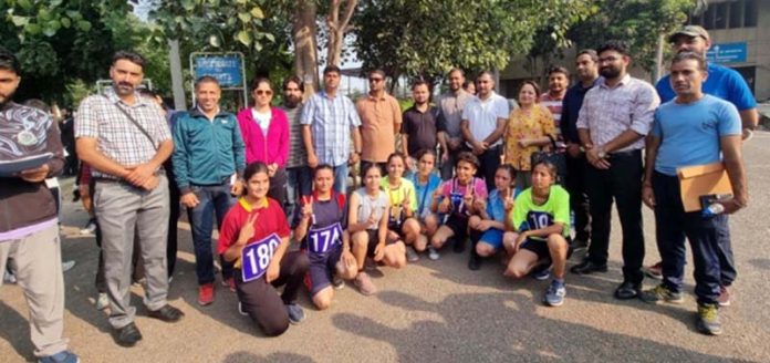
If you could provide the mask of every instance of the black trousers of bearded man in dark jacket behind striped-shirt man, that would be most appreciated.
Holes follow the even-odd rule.
[[[570,193],[570,209],[575,214],[575,240],[589,241],[591,238],[591,210],[585,190],[585,156],[566,156],[566,178],[564,187]]]

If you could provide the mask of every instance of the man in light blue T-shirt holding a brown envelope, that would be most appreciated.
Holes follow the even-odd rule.
[[[717,299],[722,283],[719,252],[724,236],[729,236],[726,215],[746,207],[749,196],[738,110],[731,103],[701,91],[701,83],[710,76],[706,70],[701,54],[676,54],[670,72],[676,97],[655,112],[653,129],[647,137],[642,198],[655,210],[663,282],[644,291],[641,298],[647,302],[683,302],[687,237],[695,265],[698,330],[718,335],[721,322]],[[732,199],[719,201],[724,214],[705,216],[700,210],[685,211],[679,197],[677,169],[717,162],[724,162],[732,185]]]

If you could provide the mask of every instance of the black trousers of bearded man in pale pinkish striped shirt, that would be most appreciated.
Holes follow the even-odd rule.
[[[608,169],[585,168],[585,187],[591,199],[591,246],[589,258],[607,263],[613,201],[623,228],[623,278],[642,282],[644,232],[642,229],[642,151],[611,154]]]

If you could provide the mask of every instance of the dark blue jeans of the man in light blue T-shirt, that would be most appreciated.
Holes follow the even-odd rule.
[[[703,217],[686,212],[679,197],[679,179],[660,173],[653,175],[655,193],[655,236],[663,259],[663,283],[681,291],[685,274],[685,237],[693,248],[695,294],[698,303],[715,303],[719,297],[721,236],[729,236],[727,216]],[[728,240],[729,241],[729,240]]]

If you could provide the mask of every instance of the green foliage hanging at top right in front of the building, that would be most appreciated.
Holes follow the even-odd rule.
[[[694,0],[595,0],[600,11],[569,31],[579,48],[597,48],[607,40],[628,43],[634,62],[647,71],[655,65],[658,37],[679,28],[695,8]]]

